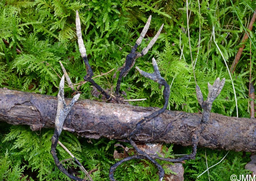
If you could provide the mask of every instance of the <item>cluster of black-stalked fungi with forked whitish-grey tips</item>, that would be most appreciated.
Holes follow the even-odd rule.
[[[87,59],[87,55],[86,55],[86,49],[84,47],[83,44],[83,39],[82,39],[82,32],[81,32],[81,26],[80,26],[80,19],[79,19],[79,14],[78,11],[76,11],[76,33],[78,36],[78,45],[79,45],[79,51],[80,54],[83,58],[84,64],[86,66],[86,76],[84,76],[84,80],[87,82],[90,82],[95,88],[97,88],[97,90],[103,94],[106,98],[106,101],[111,101],[111,102],[117,102],[117,103],[122,103],[123,99],[120,96],[119,92],[120,92],[120,84],[121,84],[121,80],[123,77],[125,77],[127,75],[127,73],[131,70],[131,68],[135,65],[135,61],[136,59],[138,59],[139,57],[144,56],[145,54],[147,54],[148,50],[155,44],[155,42],[157,41],[161,30],[163,28],[163,24],[160,27],[160,29],[158,30],[157,34],[155,35],[155,37],[150,41],[150,43],[147,45],[146,48],[144,48],[141,52],[136,52],[138,46],[141,44],[144,36],[146,35],[148,28],[150,26],[150,21],[151,21],[151,16],[148,18],[146,25],[144,26],[142,33],[140,34],[140,37],[137,39],[135,45],[132,47],[131,53],[129,53],[125,59],[125,63],[123,65],[123,67],[121,67],[120,70],[120,74],[117,80],[117,85],[116,85],[116,91],[115,91],[115,96],[110,95],[109,93],[107,93],[105,90],[103,90],[103,88],[101,88],[101,86],[99,86],[93,79],[93,70],[89,64],[89,61]],[[212,108],[212,102],[215,100],[215,98],[219,95],[219,93],[221,92],[224,83],[225,83],[225,79],[222,79],[220,81],[219,78],[217,78],[214,82],[213,85],[208,83],[208,97],[207,100],[204,101],[203,99],[203,95],[202,92],[199,88],[198,85],[196,85],[196,95],[197,95],[197,100],[199,102],[199,105],[201,106],[201,108],[203,109],[203,113],[202,113],[202,119],[201,119],[201,124],[202,126],[198,129],[195,129],[195,131],[193,132],[192,136],[191,136],[191,140],[193,143],[193,149],[191,154],[189,155],[185,155],[183,157],[180,158],[163,158],[163,157],[159,157],[158,155],[149,155],[146,152],[142,151],[135,143],[135,141],[133,140],[134,135],[139,131],[139,129],[142,127],[143,124],[146,124],[148,121],[151,121],[154,117],[158,116],[159,114],[163,113],[168,105],[169,102],[169,96],[170,96],[170,87],[169,84],[167,84],[166,80],[161,76],[158,66],[157,66],[157,62],[156,60],[153,58],[152,59],[152,64],[153,64],[153,68],[154,68],[154,72],[153,73],[148,73],[148,72],[144,72],[142,70],[140,70],[138,67],[136,67],[136,69],[139,71],[139,73],[151,80],[154,80],[155,82],[157,82],[159,85],[164,86],[164,90],[163,90],[163,97],[165,99],[165,104],[163,106],[162,109],[158,109],[153,111],[149,116],[146,117],[142,117],[136,124],[135,128],[129,133],[127,140],[129,141],[129,143],[135,148],[136,150],[136,154],[126,157],[124,159],[122,159],[121,161],[118,161],[117,163],[115,163],[113,166],[110,167],[109,170],[109,179],[111,181],[116,181],[114,179],[114,171],[116,170],[116,168],[118,166],[120,166],[122,163],[127,162],[131,159],[148,159],[150,160],[159,170],[158,174],[159,174],[159,181],[163,180],[165,171],[163,170],[163,167],[155,160],[155,159],[159,159],[159,160],[163,160],[163,161],[167,161],[167,162],[182,162],[184,160],[188,160],[188,159],[194,159],[196,156],[196,149],[197,149],[197,144],[198,144],[198,136],[200,135],[200,133],[204,130],[205,125],[207,124],[208,120],[209,120],[209,116],[210,116],[210,111]],[[55,119],[55,130],[54,130],[54,134],[52,136],[52,147],[51,147],[51,153],[53,155],[54,158],[54,162],[57,165],[57,167],[65,174],[67,175],[69,178],[73,179],[73,180],[77,180],[77,181],[85,181],[85,179],[83,178],[79,178],[76,177],[72,174],[69,174],[67,172],[67,170],[64,168],[64,166],[61,164],[61,162],[59,161],[59,159],[57,158],[57,153],[56,153],[56,147],[57,147],[57,143],[59,140],[59,136],[61,134],[61,131],[63,129],[63,123],[65,121],[65,118],[67,117],[67,114],[69,113],[69,111],[72,109],[72,107],[74,106],[75,102],[78,100],[80,94],[76,94],[74,96],[74,98],[72,99],[72,101],[67,105],[65,103],[64,100],[64,75],[61,78],[60,81],[60,86],[59,86],[59,94],[58,94],[58,107],[57,107],[57,114],[56,114],[56,119]],[[67,77],[66,77],[67,78]],[[171,129],[171,124],[167,125],[165,132],[163,132],[161,135],[158,135],[157,137],[163,136],[165,135],[166,132],[170,131]],[[155,138],[148,140],[148,142],[153,142]],[[75,158],[75,161],[80,165],[80,162]],[[89,174],[87,174],[87,177],[89,178],[90,181],[92,181],[91,177],[89,176]]]

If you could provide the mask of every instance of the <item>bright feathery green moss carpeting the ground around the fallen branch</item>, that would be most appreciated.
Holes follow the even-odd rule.
[[[256,1],[197,1],[189,2],[189,47],[187,28],[187,10],[184,1],[146,1],[146,0],[34,0],[0,2],[0,87],[33,93],[57,95],[62,71],[62,61],[73,83],[79,83],[86,74],[80,57],[75,35],[75,10],[80,13],[82,35],[87,55],[95,75],[121,67],[125,56],[131,51],[140,31],[149,15],[152,15],[150,29],[139,47],[141,51],[153,38],[162,23],[164,28],[159,40],[144,57],[136,60],[136,66],[147,72],[153,72],[151,59],[156,58],[162,76],[171,86],[169,99],[170,110],[198,112],[195,80],[193,78],[192,59],[195,63],[195,76],[204,97],[208,94],[207,82],[213,83],[217,77],[226,78],[226,84],[215,100],[212,112],[226,116],[250,117],[248,113],[248,85],[255,85],[255,25],[248,31],[250,38],[244,42],[245,48],[236,71],[230,80],[227,66],[231,64],[241,46],[248,21],[252,17]],[[199,13],[200,8],[200,13]],[[215,42],[212,29],[215,29]],[[199,46],[200,35],[200,46]],[[17,54],[16,48],[22,53]],[[191,53],[190,53],[191,52]],[[251,61],[251,63],[250,63]],[[251,70],[251,73],[250,73]],[[112,90],[117,79],[111,72],[95,79],[105,89]],[[117,72],[118,76],[118,72]],[[82,98],[95,99],[91,95],[89,83],[80,87]],[[125,99],[147,98],[135,102],[139,106],[163,106],[163,89],[158,84],[143,78],[133,68],[123,78],[121,92]],[[66,89],[71,97],[71,89]],[[234,99],[237,97],[237,105]],[[2,124],[2,123],[1,123]],[[1,180],[69,180],[53,163],[50,155],[50,137],[52,130],[42,129],[31,132],[28,127],[4,124],[1,129]],[[88,170],[94,180],[108,180],[113,159],[114,144],[117,141],[106,139],[90,140],[77,138],[63,132],[61,141],[72,150]],[[61,148],[63,156],[70,158]],[[184,148],[189,153],[189,148]],[[174,153],[177,151],[174,150]],[[183,153],[184,153],[183,152]],[[207,150],[208,165],[215,164],[225,155],[225,151]],[[179,153],[181,154],[181,153]],[[234,174],[248,173],[244,169],[247,157],[240,152],[230,152],[226,159],[210,170],[210,178],[218,180]],[[212,163],[212,164],[210,164]],[[69,165],[70,164],[70,165]],[[127,166],[128,165],[128,166]],[[147,161],[131,161],[118,168],[116,178],[119,180],[157,180],[157,169]],[[77,170],[70,162],[66,166]],[[150,169],[145,169],[150,167]],[[196,180],[206,169],[204,149],[199,149],[195,161],[185,165],[185,179]],[[124,171],[125,170],[125,171]],[[148,173],[148,170],[151,170]],[[166,170],[167,171],[167,170]],[[77,171],[78,172],[78,171]],[[230,172],[230,173],[231,173]],[[25,177],[22,174],[25,173]],[[79,171],[81,176],[83,173]],[[208,176],[197,178],[206,180]],[[229,176],[225,177],[229,179]]]

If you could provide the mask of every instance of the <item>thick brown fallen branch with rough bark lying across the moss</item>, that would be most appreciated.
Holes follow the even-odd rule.
[[[71,99],[65,99],[68,103]],[[78,100],[67,116],[63,128],[80,136],[98,139],[126,139],[136,123],[158,108]],[[54,128],[57,97],[24,93],[0,88],[0,121],[30,125],[34,131]],[[201,126],[202,114],[166,110],[143,124],[135,140],[146,141],[166,131],[154,142],[191,145],[191,135]],[[256,151],[256,120],[227,117],[211,113],[209,122],[199,136],[199,147],[221,150]]]

